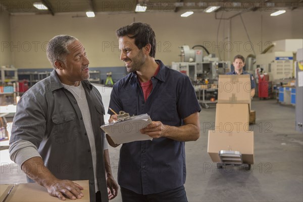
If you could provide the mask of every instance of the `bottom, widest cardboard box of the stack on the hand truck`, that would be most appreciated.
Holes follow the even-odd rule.
[[[207,152],[213,162],[222,163],[220,150],[239,151],[244,164],[254,164],[254,131],[228,133],[209,130]]]

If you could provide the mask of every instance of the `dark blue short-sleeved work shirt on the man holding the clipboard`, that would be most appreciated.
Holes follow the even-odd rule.
[[[188,76],[156,62],[160,70],[151,78],[153,90],[146,102],[136,74],[130,73],[113,86],[110,108],[130,116],[147,113],[153,121],[181,126],[184,118],[201,110],[194,88]],[[118,168],[120,186],[139,194],[182,186],[186,177],[184,145],[166,137],[124,143]]]

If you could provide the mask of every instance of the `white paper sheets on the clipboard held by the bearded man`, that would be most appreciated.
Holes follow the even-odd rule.
[[[152,140],[152,137],[141,134],[140,129],[151,124],[152,121],[148,114],[133,116],[120,121],[112,122],[100,126],[116,144],[122,144],[133,141]]]

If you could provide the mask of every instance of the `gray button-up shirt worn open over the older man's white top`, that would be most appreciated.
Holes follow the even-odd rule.
[[[96,170],[102,201],[108,201],[104,166],[104,107],[99,91],[89,81],[85,90],[96,147]],[[92,156],[80,108],[54,70],[23,94],[14,117],[10,147],[18,140],[31,142],[44,165],[59,179],[89,180],[90,200],[95,201]],[[14,145],[15,144],[15,145]],[[17,158],[17,157],[16,157]]]

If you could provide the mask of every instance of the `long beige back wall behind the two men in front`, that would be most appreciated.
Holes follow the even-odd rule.
[[[270,13],[256,11],[242,14],[256,54],[260,54],[271,41],[302,38],[302,10],[286,12],[277,17],[271,17]],[[232,15],[231,12],[225,12],[222,17]],[[11,16],[11,40],[14,47],[9,48],[14,51],[12,64],[17,68],[51,68],[45,54],[47,41],[58,34],[70,34],[85,46],[90,67],[123,66],[119,60],[115,30],[134,20],[153,27],[158,43],[156,59],[161,59],[167,65],[180,60],[178,47],[183,44],[207,45],[209,52],[215,53],[217,57],[219,51],[222,60],[232,60],[236,54],[244,57],[254,54],[240,16],[221,22],[215,19],[213,13],[195,13],[187,18],[181,18],[180,12],[97,13],[95,18],[73,16],[75,14]],[[221,13],[217,17],[221,17]]]

